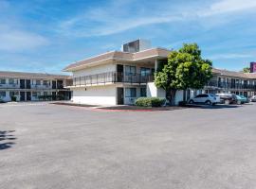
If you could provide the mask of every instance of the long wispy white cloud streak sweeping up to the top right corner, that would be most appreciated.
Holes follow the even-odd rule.
[[[202,5],[199,2],[200,6],[197,5],[194,9],[194,5],[189,4],[187,7],[182,5],[182,9],[180,9],[168,1],[157,4],[154,8],[137,5],[137,8],[133,9],[134,4],[135,2],[132,0],[125,1],[125,3],[113,1],[108,5],[102,5],[101,8],[84,10],[85,13],[59,23],[57,31],[67,36],[76,37],[107,36],[139,26],[188,21],[256,8],[255,0],[220,0]],[[214,23],[212,20],[210,22]],[[221,24],[219,21],[215,23]]]

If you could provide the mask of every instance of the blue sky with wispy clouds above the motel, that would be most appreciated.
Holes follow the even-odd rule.
[[[0,0],[0,70],[61,73],[137,38],[198,43],[213,66],[256,60],[255,0]]]

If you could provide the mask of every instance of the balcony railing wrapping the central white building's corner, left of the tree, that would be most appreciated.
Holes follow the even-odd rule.
[[[102,74],[90,75],[85,77],[74,77],[72,86],[87,86],[106,83],[147,83],[152,82],[154,76],[141,76],[140,74],[125,75],[119,72],[107,72]],[[68,83],[70,84],[70,83]]]

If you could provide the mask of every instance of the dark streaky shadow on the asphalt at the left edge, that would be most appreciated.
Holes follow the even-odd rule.
[[[0,130],[0,150],[8,149],[15,145],[17,138],[12,134],[15,130]]]

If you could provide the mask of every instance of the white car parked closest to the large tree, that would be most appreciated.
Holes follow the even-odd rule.
[[[220,103],[220,98],[214,94],[198,94],[189,100],[190,104],[215,105]]]

